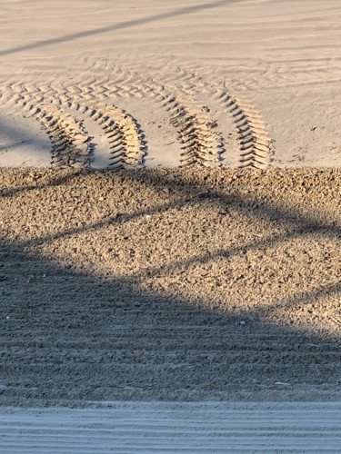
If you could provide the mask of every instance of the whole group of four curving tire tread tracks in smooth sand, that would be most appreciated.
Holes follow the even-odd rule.
[[[92,69],[95,75],[85,73],[79,81],[58,83],[56,78],[56,82],[16,82],[0,88],[2,104],[11,104],[12,109],[16,105],[17,116],[29,114],[42,123],[52,143],[52,165],[92,167],[98,134],[105,137],[102,166],[145,165],[151,153],[149,142],[154,140],[145,133],[151,111],[174,129],[176,141],[169,153],[176,156],[176,148],[181,153],[173,165],[261,169],[269,165],[273,150],[266,123],[252,105],[236,100],[221,81],[207,82],[183,69],[151,76],[115,65],[107,80],[101,76],[101,64]],[[143,106],[138,118],[130,113],[132,99]],[[84,115],[87,123],[96,123],[93,134],[87,132]],[[158,127],[160,131],[154,131],[158,144],[165,144],[163,127]],[[157,146],[154,148],[157,165]]]

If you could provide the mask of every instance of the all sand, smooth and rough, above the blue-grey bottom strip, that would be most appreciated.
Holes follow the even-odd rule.
[[[0,0],[1,405],[340,399],[340,18]]]

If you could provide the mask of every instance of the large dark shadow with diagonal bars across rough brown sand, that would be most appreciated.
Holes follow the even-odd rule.
[[[187,195],[179,197],[177,206],[193,206],[212,197],[222,206],[237,202],[248,217],[289,219],[292,231],[250,242],[243,246],[246,250],[314,234],[316,229],[340,237],[337,226],[269,202],[250,214],[252,197],[246,200],[235,194],[231,199],[205,184],[200,186],[199,178],[190,187],[181,178],[174,182],[172,173],[169,178],[150,173],[146,179],[143,173],[121,175],[132,186],[134,180],[139,184],[146,180],[146,186],[170,191],[186,187]],[[77,183],[81,177],[84,174],[64,175],[66,183]],[[48,184],[53,187],[54,183],[49,180]],[[164,203],[161,208],[165,212],[170,206]],[[124,216],[145,213],[140,210]],[[111,222],[127,221],[119,218]],[[91,225],[94,229],[99,224]],[[64,233],[79,234],[87,228]],[[194,302],[167,292],[146,291],[140,285],[146,278],[143,273],[135,273],[133,279],[101,281],[24,252],[25,247],[35,250],[40,241],[51,238],[3,242],[0,252],[3,405],[33,400],[84,405],[86,400],[333,400],[341,396],[339,339],[268,318],[271,311],[337,297],[340,282],[297,291],[283,300],[274,295],[266,308],[246,311],[231,306],[220,311],[208,309],[204,298]],[[237,246],[218,253],[238,251]],[[211,258],[212,254],[201,254],[190,260]],[[156,266],[151,272],[184,266],[190,262],[169,263],[164,269]]]

